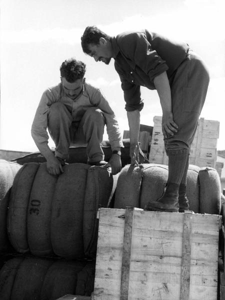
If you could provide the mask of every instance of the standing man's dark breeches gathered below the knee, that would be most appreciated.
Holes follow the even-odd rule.
[[[178,132],[164,140],[166,150],[190,149],[208,83],[209,74],[204,62],[193,51],[189,51],[171,83],[172,113]]]

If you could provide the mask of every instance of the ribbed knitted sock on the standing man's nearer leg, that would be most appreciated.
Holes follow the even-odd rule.
[[[187,164],[188,149],[168,149],[168,179],[167,182],[180,184]],[[187,171],[187,170],[186,170]]]

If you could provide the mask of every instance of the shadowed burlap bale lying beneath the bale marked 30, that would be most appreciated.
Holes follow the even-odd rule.
[[[55,300],[90,295],[95,261],[17,256],[0,269],[0,300]]]

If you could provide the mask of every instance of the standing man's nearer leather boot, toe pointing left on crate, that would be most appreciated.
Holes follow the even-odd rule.
[[[163,194],[157,201],[148,201],[144,210],[178,212],[178,190],[179,184],[167,182]]]

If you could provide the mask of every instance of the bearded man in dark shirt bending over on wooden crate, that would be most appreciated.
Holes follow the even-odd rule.
[[[172,41],[146,29],[109,36],[86,27],[81,46],[95,61],[114,58],[126,102],[131,163],[138,165],[140,85],[156,89],[162,108],[162,132],[168,155],[168,179],[162,196],[148,201],[147,210],[188,209],[186,175],[190,144],[204,104],[209,75],[201,58],[187,43]]]

